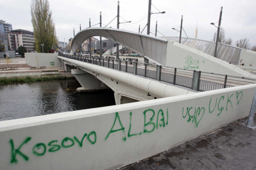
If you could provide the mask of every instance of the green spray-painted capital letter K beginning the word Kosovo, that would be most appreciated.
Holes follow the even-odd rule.
[[[11,154],[12,154],[12,159],[11,159],[11,163],[17,163],[18,160],[16,159],[16,155],[17,153],[23,157],[23,159],[25,159],[26,161],[29,159],[29,157],[27,155],[25,155],[24,153],[22,153],[22,151],[20,151],[21,147],[28,143],[28,141],[31,140],[31,137],[27,137],[22,144],[19,145],[19,147],[17,149],[14,149],[14,142],[12,139],[10,139],[10,144],[11,144]]]

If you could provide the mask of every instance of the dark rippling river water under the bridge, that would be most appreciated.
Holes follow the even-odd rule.
[[[74,94],[78,87],[76,79],[0,86],[0,121],[115,105],[112,90]]]

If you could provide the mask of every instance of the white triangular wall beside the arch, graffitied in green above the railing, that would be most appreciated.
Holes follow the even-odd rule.
[[[167,43],[167,66],[256,78],[255,75],[216,57],[179,44]]]

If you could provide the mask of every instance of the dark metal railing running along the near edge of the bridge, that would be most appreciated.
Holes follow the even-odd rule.
[[[98,56],[90,57],[67,54],[58,55],[81,62],[112,68],[114,70],[127,72],[145,78],[155,79],[168,84],[190,88],[195,91],[209,91],[256,83],[256,79],[248,77],[189,70],[156,64],[145,64],[143,62],[100,58]]]

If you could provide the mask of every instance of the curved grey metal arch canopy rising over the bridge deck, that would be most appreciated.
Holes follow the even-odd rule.
[[[115,41],[156,64],[166,64],[167,40],[114,28],[88,28],[79,31],[71,43],[70,54],[73,55],[86,39],[94,36]]]

